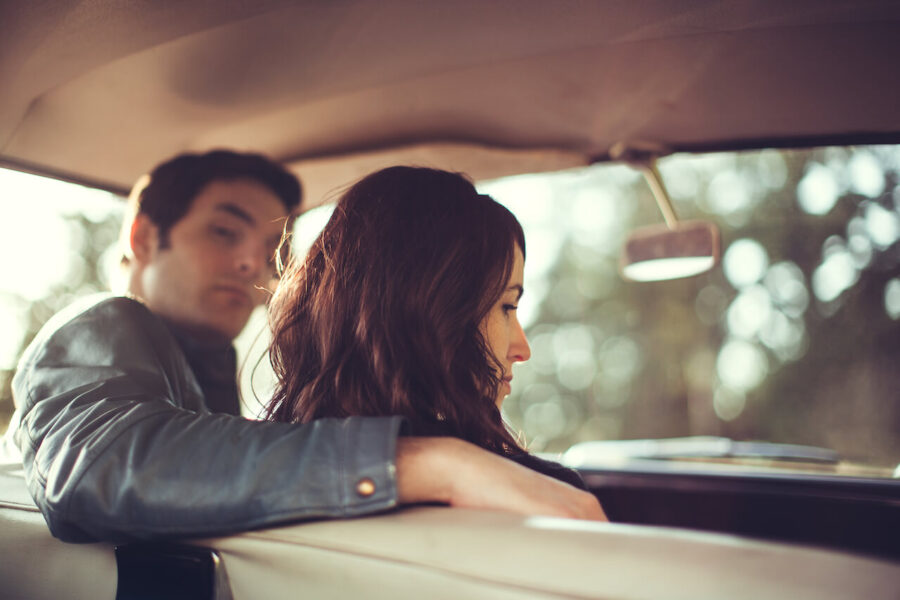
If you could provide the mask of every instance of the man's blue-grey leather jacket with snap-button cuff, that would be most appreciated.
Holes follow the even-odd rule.
[[[62,540],[212,536],[397,503],[399,418],[292,425],[211,413],[165,323],[128,298],[54,317],[13,394],[7,435]],[[374,493],[357,492],[363,479]]]

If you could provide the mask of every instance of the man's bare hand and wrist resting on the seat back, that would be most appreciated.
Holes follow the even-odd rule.
[[[399,438],[397,491],[403,504],[608,520],[592,494],[456,438]]]

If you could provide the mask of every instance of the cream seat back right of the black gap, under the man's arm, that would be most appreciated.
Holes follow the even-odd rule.
[[[205,542],[235,600],[887,598],[900,565],[663,527],[438,507]]]

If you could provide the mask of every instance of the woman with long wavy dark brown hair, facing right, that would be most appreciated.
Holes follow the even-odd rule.
[[[391,167],[340,199],[270,307],[276,421],[403,415],[584,487],[527,454],[500,416],[530,349],[516,316],[525,236],[461,175]]]

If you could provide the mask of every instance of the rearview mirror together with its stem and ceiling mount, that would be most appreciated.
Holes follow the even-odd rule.
[[[719,261],[720,234],[709,221],[679,221],[656,167],[656,159],[668,154],[651,144],[622,142],[610,149],[610,157],[643,173],[665,225],[650,225],[631,232],[620,259],[622,276],[632,281],[663,281],[699,275]]]

